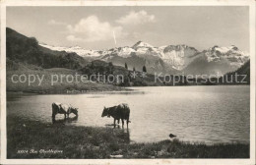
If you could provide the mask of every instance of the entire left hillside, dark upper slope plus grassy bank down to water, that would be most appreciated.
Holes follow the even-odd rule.
[[[27,37],[9,27],[6,28],[6,82],[7,91],[23,91],[36,93],[63,93],[63,92],[81,92],[92,90],[120,90],[121,88],[112,84],[94,83],[94,82],[72,82],[67,79],[63,82],[58,80],[52,85],[52,76],[61,75],[71,76],[82,75],[81,69],[88,62],[76,53],[67,53],[65,51],[53,51],[38,45],[33,37]],[[18,82],[19,77],[14,75],[24,75],[26,82]],[[39,84],[38,79],[29,84],[29,77],[43,77]],[[23,80],[24,81],[24,80]],[[31,80],[32,81],[32,80]]]

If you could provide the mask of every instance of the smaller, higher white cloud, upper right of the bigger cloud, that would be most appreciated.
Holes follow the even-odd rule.
[[[156,22],[154,15],[148,15],[148,13],[144,10],[140,12],[131,11],[128,15],[121,17],[116,20],[116,23],[129,26],[129,25],[143,25],[146,23],[154,23]]]

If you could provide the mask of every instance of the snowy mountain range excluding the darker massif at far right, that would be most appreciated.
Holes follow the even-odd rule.
[[[127,63],[129,69],[142,70],[147,67],[149,73],[175,74],[186,67],[198,54],[198,51],[187,45],[154,47],[142,41],[133,46],[111,48],[108,50],[86,50],[81,47],[54,47],[40,44],[51,50],[76,52],[88,60],[103,60],[114,65],[124,66]]]

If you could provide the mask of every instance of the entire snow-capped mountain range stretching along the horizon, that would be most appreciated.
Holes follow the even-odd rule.
[[[115,47],[108,50],[87,50],[79,46],[40,45],[51,50],[75,52],[87,59],[99,59],[118,66],[124,66],[127,63],[129,69],[134,67],[139,71],[145,65],[150,73],[184,71],[189,74],[226,73],[238,69],[249,60],[248,53],[233,45],[229,47],[214,46],[202,52],[184,44],[155,47],[143,41],[138,41],[131,47]]]

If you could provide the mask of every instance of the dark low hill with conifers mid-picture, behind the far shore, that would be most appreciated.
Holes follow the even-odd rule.
[[[83,74],[88,76],[100,75],[100,79],[96,81],[104,83],[105,78],[109,79],[109,82],[118,86],[158,86],[158,85],[186,85],[187,83],[183,81],[182,76],[175,76],[175,78],[166,79],[164,82],[163,75],[153,75],[150,73],[145,73],[137,70],[126,69],[121,66],[114,66],[111,62],[106,63],[104,61],[95,60],[88,64],[85,68],[80,70]],[[109,77],[108,77],[109,76]],[[120,77],[121,76],[121,77]],[[185,78],[185,77],[184,77]],[[119,79],[119,81],[118,81]]]

